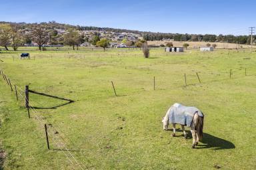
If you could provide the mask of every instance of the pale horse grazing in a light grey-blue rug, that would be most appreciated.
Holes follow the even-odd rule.
[[[173,104],[163,118],[163,129],[167,130],[169,124],[173,124],[173,137],[175,137],[175,124],[180,124],[187,137],[184,126],[190,128],[193,137],[192,148],[198,144],[198,141],[203,138],[203,113],[194,107],[183,106],[181,104]]]

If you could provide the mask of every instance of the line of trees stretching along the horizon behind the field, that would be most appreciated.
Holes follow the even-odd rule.
[[[64,35],[58,34],[56,29],[63,29],[66,31]],[[90,36],[84,35],[85,30],[93,30]],[[233,42],[239,44],[250,44],[251,37],[247,35],[235,36],[235,35],[189,35],[178,33],[151,33],[143,31],[132,31],[126,29],[112,29],[101,27],[82,27],[74,25],[66,25],[51,21],[49,23],[9,23],[0,22],[0,46],[4,46],[6,50],[9,50],[8,46],[11,46],[13,50],[17,50],[18,46],[23,46],[26,43],[35,42],[41,50],[44,44],[67,44],[78,48],[83,42],[90,42],[95,46],[101,46],[105,49],[109,45],[108,39],[99,39],[100,34],[97,31],[111,31],[117,33],[135,33],[143,37],[144,41],[204,41],[204,42]],[[253,42],[255,42],[256,36],[253,36]],[[99,42],[101,41],[101,42]],[[97,44],[97,42],[99,42]],[[137,46],[141,48],[143,42],[127,41],[123,40],[123,43],[127,46]],[[104,45],[103,45],[104,44]]]

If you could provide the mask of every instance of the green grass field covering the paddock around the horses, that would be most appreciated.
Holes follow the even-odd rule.
[[[29,119],[21,96],[17,102],[0,78],[3,169],[256,169],[256,53],[150,52],[143,58],[139,49],[31,51],[31,60],[20,60],[20,52],[2,51],[0,69],[22,96],[29,85],[75,100],[31,109]],[[37,108],[65,104],[35,94],[29,100]],[[161,119],[175,102],[205,114],[196,149],[188,128],[189,139],[163,131]],[[52,125],[50,150],[43,122]]]

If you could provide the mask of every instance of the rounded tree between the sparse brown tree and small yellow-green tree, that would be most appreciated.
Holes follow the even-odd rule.
[[[64,44],[73,46],[73,50],[75,50],[75,45],[79,44],[79,37],[80,37],[79,32],[74,29],[69,29],[68,33],[63,35],[63,37],[64,37]]]

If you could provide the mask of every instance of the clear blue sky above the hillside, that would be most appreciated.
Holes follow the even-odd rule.
[[[255,7],[255,0],[0,0],[0,21],[248,35]]]

